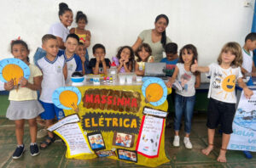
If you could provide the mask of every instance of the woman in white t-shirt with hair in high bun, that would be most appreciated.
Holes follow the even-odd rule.
[[[67,27],[73,22],[73,12],[70,8],[68,8],[66,3],[60,3],[59,8],[59,19],[61,22],[51,25],[49,28],[49,34],[57,37],[59,48],[65,49],[64,42],[69,34]]]

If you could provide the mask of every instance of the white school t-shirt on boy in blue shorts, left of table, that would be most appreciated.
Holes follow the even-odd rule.
[[[52,94],[58,87],[65,86],[63,67],[66,61],[64,56],[56,56],[55,60],[49,61],[46,57],[39,59],[38,67],[43,71],[42,92],[40,100],[52,104]]]

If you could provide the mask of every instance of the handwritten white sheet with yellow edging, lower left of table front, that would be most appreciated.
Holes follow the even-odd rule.
[[[55,133],[61,135],[67,144],[67,152],[70,156],[77,154],[92,154],[90,147],[84,138],[79,123],[67,124],[55,130]]]

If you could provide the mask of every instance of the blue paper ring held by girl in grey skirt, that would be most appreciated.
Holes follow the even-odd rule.
[[[26,63],[20,59],[3,59],[0,61],[0,81],[7,82],[3,78],[3,68],[8,64],[17,64],[23,70],[23,76],[28,80],[30,76],[30,70]]]

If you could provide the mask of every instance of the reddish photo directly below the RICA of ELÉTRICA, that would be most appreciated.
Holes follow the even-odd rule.
[[[134,143],[134,135],[123,133],[123,132],[114,132],[113,145],[132,148],[133,143]]]

